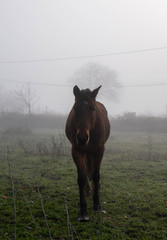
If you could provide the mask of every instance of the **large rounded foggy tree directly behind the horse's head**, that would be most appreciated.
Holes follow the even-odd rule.
[[[76,71],[71,78],[73,84],[82,88],[95,88],[103,86],[103,96],[107,100],[118,100],[120,83],[115,71],[98,63],[89,63]]]

